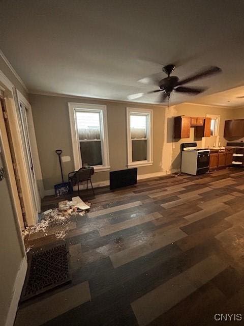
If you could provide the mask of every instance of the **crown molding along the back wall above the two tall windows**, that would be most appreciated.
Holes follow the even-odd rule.
[[[52,92],[42,92],[42,91],[29,91],[29,94],[33,95],[44,95],[44,96],[54,96],[54,97],[67,97],[67,98],[78,98],[82,100],[93,100],[93,101],[106,101],[106,102],[116,102],[116,103],[123,103],[123,104],[130,104],[130,105],[144,105],[144,106],[156,106],[166,108],[167,105],[156,104],[156,103],[143,103],[143,102],[130,102],[130,101],[122,101],[122,100],[111,100],[107,98],[97,98],[97,97],[85,97],[85,96],[78,96],[78,95],[68,95],[68,94],[59,94],[59,93],[52,93]]]

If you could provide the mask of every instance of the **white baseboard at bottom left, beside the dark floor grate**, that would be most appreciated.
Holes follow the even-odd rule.
[[[5,326],[13,326],[13,324],[14,324],[15,315],[17,312],[19,298],[20,298],[22,287],[24,284],[26,271],[27,271],[27,260],[26,260],[26,257],[23,257],[23,259],[20,263],[20,267],[19,267],[16,279],[15,279],[13,296],[12,296],[12,300],[10,303],[9,312],[7,315]]]

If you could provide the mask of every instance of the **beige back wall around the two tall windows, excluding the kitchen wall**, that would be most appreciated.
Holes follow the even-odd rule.
[[[126,107],[153,108],[154,110],[154,164],[138,168],[138,174],[161,171],[162,148],[164,143],[165,108],[127,104],[95,99],[77,99],[29,94],[33,108],[33,119],[45,190],[61,181],[56,149],[62,149],[63,155],[71,156],[70,162],[64,162],[64,174],[74,170],[68,102],[97,103],[107,105],[109,156],[111,171],[127,168]],[[96,172],[94,182],[109,180],[109,172]]]

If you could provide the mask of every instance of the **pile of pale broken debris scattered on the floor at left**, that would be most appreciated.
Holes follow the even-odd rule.
[[[64,230],[55,233],[57,239],[64,239],[67,231],[67,224],[71,223],[71,216],[84,215],[86,210],[90,208],[90,203],[84,203],[80,197],[73,197],[72,201],[64,200],[58,203],[58,208],[48,209],[43,212],[43,219],[32,227],[28,227],[23,231],[23,236],[27,234],[43,232],[43,236],[47,236],[46,232],[49,228],[56,226],[64,226]],[[30,250],[31,248],[28,247]]]

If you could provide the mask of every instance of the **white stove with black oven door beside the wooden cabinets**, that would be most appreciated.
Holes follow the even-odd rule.
[[[209,170],[210,149],[197,148],[197,143],[181,144],[181,172],[199,175]]]

